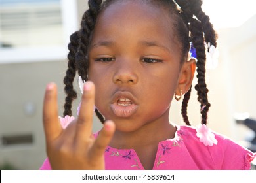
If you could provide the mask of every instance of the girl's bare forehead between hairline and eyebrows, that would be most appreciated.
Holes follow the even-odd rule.
[[[173,20],[165,8],[144,1],[115,1],[100,12],[93,42],[137,37],[173,46],[173,35]]]

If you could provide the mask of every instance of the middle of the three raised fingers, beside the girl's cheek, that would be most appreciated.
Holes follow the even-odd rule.
[[[81,108],[77,119],[75,141],[84,141],[91,135],[93,127],[93,110],[95,107],[95,85],[87,81],[83,88]]]

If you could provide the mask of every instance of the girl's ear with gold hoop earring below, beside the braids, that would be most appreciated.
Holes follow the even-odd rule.
[[[190,59],[185,61],[181,67],[181,72],[179,75],[179,81],[177,88],[175,90],[176,95],[185,94],[190,89],[192,84],[194,73],[196,71],[196,60]]]

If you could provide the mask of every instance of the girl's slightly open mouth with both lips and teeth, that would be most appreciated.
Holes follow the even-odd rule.
[[[131,93],[117,92],[114,95],[114,101],[111,103],[110,108],[116,116],[127,118],[136,112],[138,105],[135,104]]]

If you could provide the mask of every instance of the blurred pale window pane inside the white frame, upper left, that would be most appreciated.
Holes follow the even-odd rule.
[[[60,0],[1,0],[2,46],[64,44]]]

